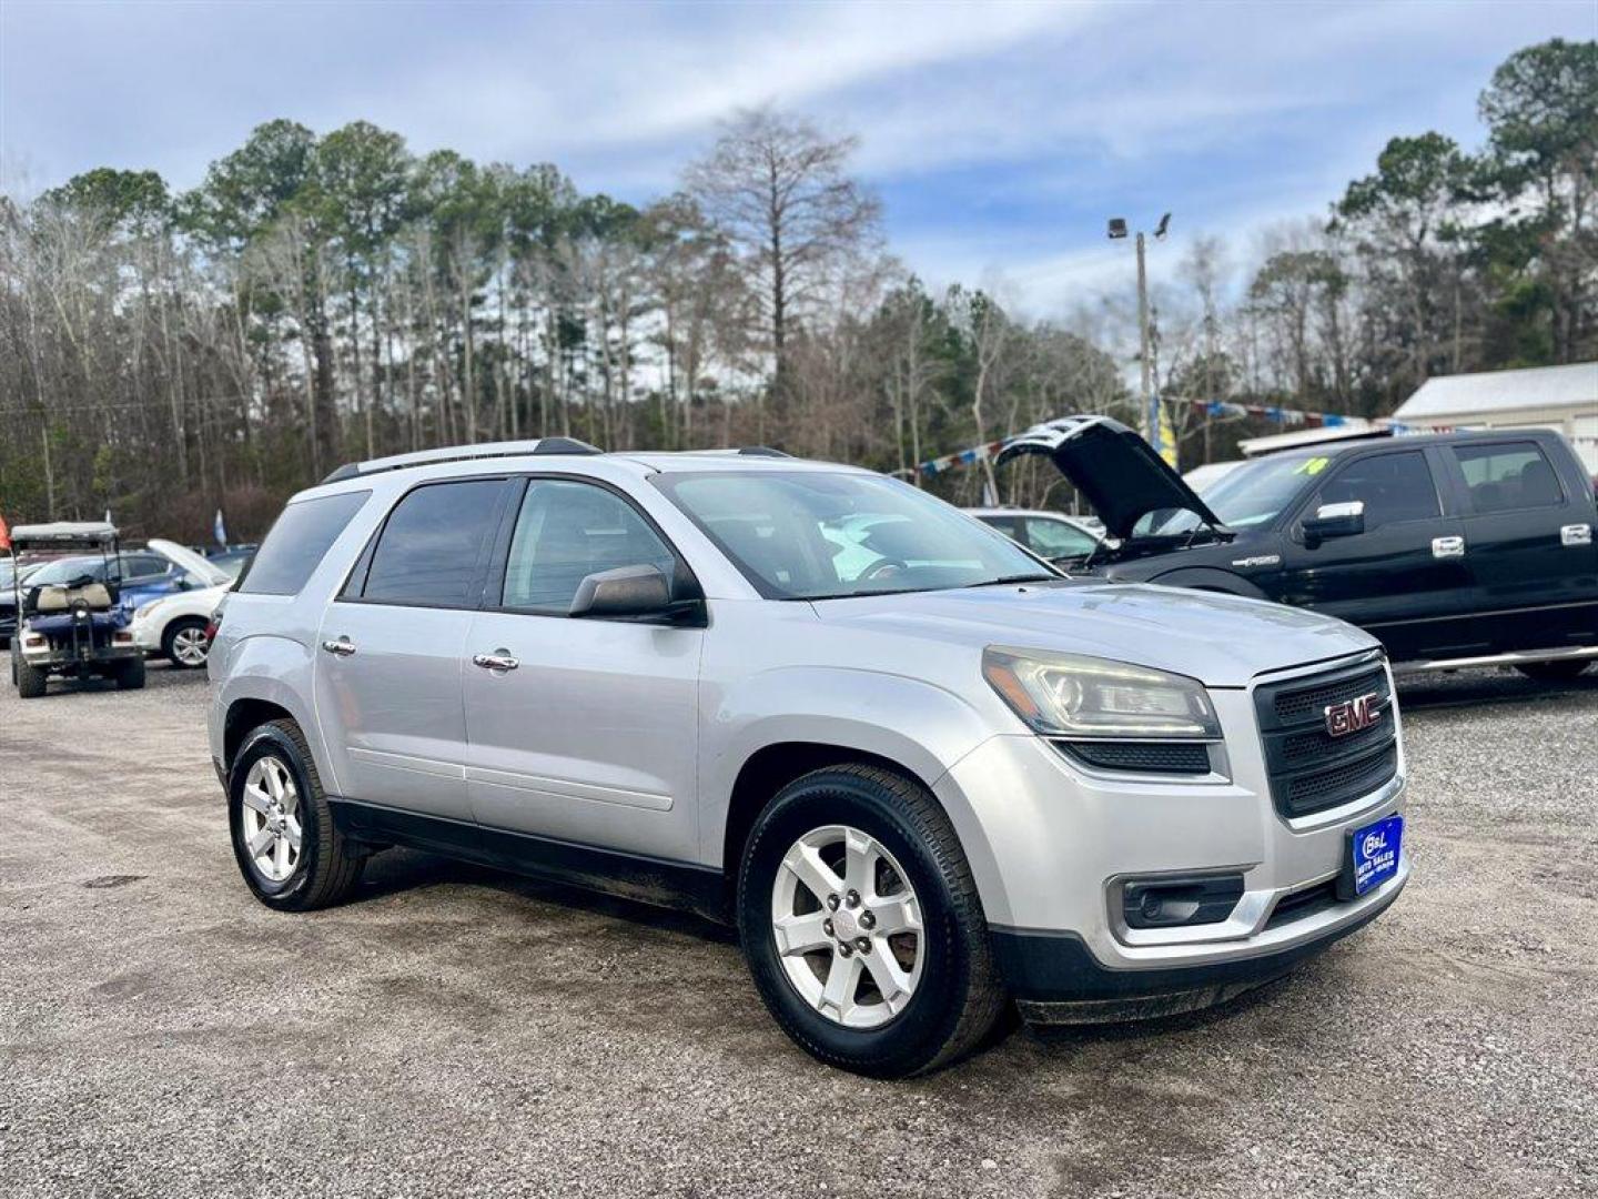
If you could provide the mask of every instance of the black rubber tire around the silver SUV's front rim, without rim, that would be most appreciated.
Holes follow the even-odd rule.
[[[783,970],[772,887],[788,849],[825,825],[876,838],[920,902],[922,975],[887,1023],[845,1028],[812,1007]],[[738,935],[772,1017],[815,1058],[873,1078],[906,1078],[978,1047],[1005,1006],[976,884],[948,815],[927,790],[876,766],[813,771],[785,787],[754,822],[738,870]]]

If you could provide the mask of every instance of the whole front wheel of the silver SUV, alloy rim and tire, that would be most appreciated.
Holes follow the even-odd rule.
[[[828,1065],[904,1078],[976,1047],[1004,1009],[954,828],[876,766],[797,779],[749,833],[743,953],[772,1017]]]

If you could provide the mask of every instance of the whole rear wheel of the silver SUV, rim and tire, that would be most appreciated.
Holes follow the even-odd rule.
[[[268,908],[326,908],[360,881],[364,854],[334,825],[294,721],[270,721],[244,739],[229,774],[227,811],[238,870]]]

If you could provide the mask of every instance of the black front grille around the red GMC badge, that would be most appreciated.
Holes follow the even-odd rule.
[[[1333,737],[1326,708],[1376,695],[1376,724]],[[1387,671],[1363,662],[1254,689],[1270,798],[1285,817],[1314,815],[1381,788],[1398,772]]]

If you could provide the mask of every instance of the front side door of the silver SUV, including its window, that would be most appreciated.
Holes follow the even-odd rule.
[[[463,659],[467,790],[484,828],[692,862],[705,633],[572,619],[598,571],[686,566],[622,494],[527,481]]]

